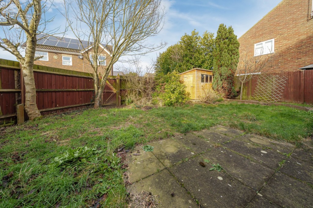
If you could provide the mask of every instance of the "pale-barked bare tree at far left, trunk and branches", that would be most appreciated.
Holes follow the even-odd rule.
[[[36,105],[36,88],[33,76],[34,61],[42,58],[35,57],[36,36],[45,31],[46,24],[52,19],[42,18],[48,9],[41,0],[0,0],[0,26],[3,36],[0,37],[0,47],[13,54],[22,65],[25,83],[25,110],[29,119],[40,116]],[[20,53],[23,43],[26,43],[25,56]]]

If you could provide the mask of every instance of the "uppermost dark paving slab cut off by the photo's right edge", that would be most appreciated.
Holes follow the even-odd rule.
[[[313,186],[313,151],[295,150],[280,171]]]

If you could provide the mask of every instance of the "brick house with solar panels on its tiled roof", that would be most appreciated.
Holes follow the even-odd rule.
[[[34,64],[93,73],[93,68],[87,59],[93,54],[92,42],[82,41],[83,48],[79,40],[73,38],[46,36],[45,34],[39,34],[37,38],[35,56],[43,57],[34,61]],[[22,47],[25,46],[22,45]],[[112,46],[109,45],[100,44],[99,46],[98,71],[101,75],[104,74],[106,63],[111,59],[111,49]],[[110,75],[113,75],[113,66]]]

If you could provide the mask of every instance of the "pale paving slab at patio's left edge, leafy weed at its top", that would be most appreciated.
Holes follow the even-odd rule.
[[[141,150],[140,155],[135,156],[137,149]],[[127,172],[131,183],[165,168],[152,152],[143,151],[141,146],[132,151],[132,153],[128,153],[126,158],[128,159]]]

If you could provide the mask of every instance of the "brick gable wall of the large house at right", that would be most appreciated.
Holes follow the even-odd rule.
[[[284,0],[239,38],[239,53],[254,56],[254,44],[275,39],[275,70],[294,71],[313,63],[311,0]],[[266,55],[264,55],[266,56]],[[265,69],[267,70],[267,69]]]

